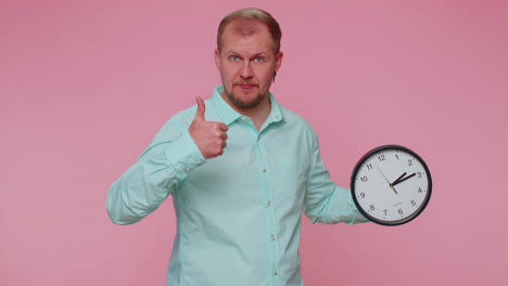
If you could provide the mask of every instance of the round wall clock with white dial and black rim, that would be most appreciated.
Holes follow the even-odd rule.
[[[356,165],[351,192],[358,210],[382,225],[399,225],[418,217],[432,193],[432,179],[423,159],[398,145],[368,152]]]

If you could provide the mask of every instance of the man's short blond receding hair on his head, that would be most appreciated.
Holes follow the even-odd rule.
[[[228,24],[237,20],[253,20],[259,21],[261,23],[265,24],[268,28],[268,31],[271,35],[274,40],[274,50],[275,53],[278,54],[280,51],[280,39],[282,38],[282,31],[280,30],[279,23],[266,11],[256,8],[245,8],[238,11],[232,12],[231,14],[227,15],[223,18],[219,24],[218,32],[217,32],[217,49],[220,51],[223,48],[223,34],[224,29]],[[253,29],[242,29],[242,34],[253,34],[255,30]]]

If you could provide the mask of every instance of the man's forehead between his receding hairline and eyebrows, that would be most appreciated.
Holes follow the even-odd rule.
[[[256,20],[234,20],[229,23],[223,34],[225,50],[239,46],[272,49],[274,39],[268,27]]]

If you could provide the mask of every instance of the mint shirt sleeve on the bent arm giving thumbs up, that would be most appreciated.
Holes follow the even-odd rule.
[[[169,120],[107,194],[107,213],[116,224],[140,221],[178,188],[188,173],[205,162],[187,129]],[[181,128],[181,127],[180,127]]]

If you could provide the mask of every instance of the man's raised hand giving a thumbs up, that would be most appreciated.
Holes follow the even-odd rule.
[[[214,158],[224,154],[226,140],[228,139],[228,126],[223,122],[206,121],[205,104],[201,98],[195,98],[198,110],[194,120],[189,127],[189,133],[201,154],[206,159]]]

